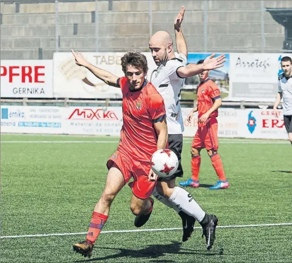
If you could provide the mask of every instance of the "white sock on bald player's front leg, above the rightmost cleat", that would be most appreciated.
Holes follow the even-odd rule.
[[[191,194],[181,187],[174,187],[174,191],[168,201],[172,202],[174,206],[180,208],[189,216],[196,218],[198,222],[201,222],[206,214]]]

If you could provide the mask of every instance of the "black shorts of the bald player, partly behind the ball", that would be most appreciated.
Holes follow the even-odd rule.
[[[176,177],[183,177],[182,167],[182,149],[183,149],[183,135],[182,134],[169,134],[168,135],[168,148],[178,156],[179,167],[176,173],[167,178],[159,178],[158,181],[169,181]]]

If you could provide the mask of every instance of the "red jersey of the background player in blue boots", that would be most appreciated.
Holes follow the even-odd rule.
[[[198,100],[198,118],[200,118],[204,113],[206,113],[212,106],[216,99],[221,98],[220,89],[218,86],[211,81],[209,78],[201,82],[197,90],[197,100]],[[213,111],[209,118],[217,117],[218,109]]]

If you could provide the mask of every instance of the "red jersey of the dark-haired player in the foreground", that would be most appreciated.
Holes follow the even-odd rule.
[[[123,93],[123,127],[118,151],[139,161],[150,161],[157,151],[157,139],[153,123],[166,117],[164,101],[150,82],[144,82],[139,90],[131,91],[126,77],[118,84]]]

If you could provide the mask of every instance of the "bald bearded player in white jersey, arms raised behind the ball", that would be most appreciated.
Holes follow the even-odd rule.
[[[194,221],[197,219],[203,228],[207,249],[209,250],[215,240],[218,218],[214,215],[206,214],[190,193],[175,185],[176,177],[183,176],[181,153],[184,126],[179,98],[185,78],[199,74],[204,70],[222,67],[225,62],[225,56],[221,55],[215,58],[215,54],[212,54],[202,65],[186,65],[187,46],[181,30],[184,11],[185,8],[182,7],[174,22],[179,53],[178,58],[174,55],[172,37],[168,32],[158,31],[152,35],[149,41],[152,57],[158,66],[157,74],[151,82],[164,99],[168,145],[177,154],[180,161],[178,171],[170,178],[159,179],[152,194],[155,198],[176,210],[181,216],[184,230],[183,241],[186,241],[190,237],[193,231]],[[137,216],[135,226],[143,226],[149,216],[150,214]]]

